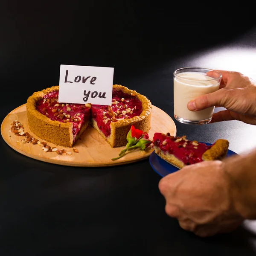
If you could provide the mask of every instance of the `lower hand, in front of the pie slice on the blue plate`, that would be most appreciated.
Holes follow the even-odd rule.
[[[243,218],[230,194],[231,182],[221,161],[185,166],[163,177],[159,189],[166,199],[166,213],[180,227],[198,236],[230,232]]]

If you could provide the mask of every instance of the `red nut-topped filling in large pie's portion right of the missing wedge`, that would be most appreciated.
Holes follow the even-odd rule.
[[[111,122],[139,116],[141,112],[142,104],[136,96],[116,89],[113,89],[112,108],[105,105],[92,105],[92,117],[106,137],[111,134]]]

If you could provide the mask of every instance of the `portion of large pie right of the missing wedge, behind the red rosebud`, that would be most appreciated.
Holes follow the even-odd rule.
[[[150,121],[151,102],[121,85],[113,86],[112,106],[92,105],[92,126],[112,147],[127,144],[131,125],[148,132]]]

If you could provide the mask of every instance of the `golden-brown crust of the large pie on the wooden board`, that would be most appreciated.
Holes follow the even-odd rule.
[[[99,132],[99,134],[102,135],[102,137],[107,140],[111,147],[120,147],[126,145],[126,135],[130,130],[131,125],[134,125],[135,128],[143,130],[144,132],[149,131],[151,124],[151,102],[140,93],[130,90],[122,85],[115,84],[113,85],[113,89],[114,88],[116,90],[122,90],[123,93],[136,96],[137,99],[140,100],[142,103],[142,112],[140,113],[140,116],[134,116],[128,119],[119,119],[116,122],[111,122],[111,134],[108,137],[106,137],[102,131],[100,131],[96,121],[91,118],[88,122],[84,123],[77,137],[81,136],[81,134],[87,128],[87,125],[89,125],[90,121],[92,126]],[[73,138],[73,123],[51,120],[36,109],[36,103],[39,100],[43,99],[46,94],[58,90],[58,86],[53,86],[45,90],[35,92],[27,99],[26,109],[28,125],[30,130],[41,139],[56,145],[72,147],[75,143]]]

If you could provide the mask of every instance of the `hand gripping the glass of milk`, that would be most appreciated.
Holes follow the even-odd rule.
[[[224,107],[227,110],[214,113],[211,123],[239,120],[256,125],[256,82],[239,72],[217,71],[222,74],[220,89],[198,96],[187,108],[198,111],[212,106]]]

